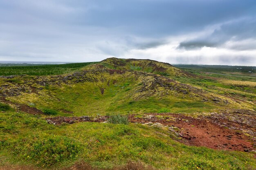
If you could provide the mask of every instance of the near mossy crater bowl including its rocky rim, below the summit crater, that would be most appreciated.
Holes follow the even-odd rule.
[[[80,72],[70,78],[65,81],[65,75],[31,80],[21,77],[19,86],[22,88],[19,89],[16,89],[17,83],[7,79],[9,90],[13,88],[13,91],[20,92],[6,99],[40,110],[52,108],[60,115],[67,115],[63,110],[72,111],[77,116],[154,113],[161,108],[168,108],[174,113],[213,112],[224,107],[252,108],[250,104],[239,104],[161,75],[133,71],[112,73],[111,70],[100,69]],[[214,99],[219,102],[214,102]]]

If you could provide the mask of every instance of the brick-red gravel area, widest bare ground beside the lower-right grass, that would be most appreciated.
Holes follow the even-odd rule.
[[[206,120],[180,121],[174,125],[182,129],[182,137],[187,139],[184,141],[185,144],[223,150],[252,149],[252,143],[248,142],[247,136]]]

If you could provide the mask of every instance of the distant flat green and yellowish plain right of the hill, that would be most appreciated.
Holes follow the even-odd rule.
[[[175,65],[199,77],[171,77],[179,82],[200,87],[211,93],[233,97],[256,104],[255,66],[211,66],[211,65]],[[235,68],[235,69],[234,69]],[[239,69],[236,69],[239,68]],[[240,69],[242,68],[242,69]],[[254,110],[256,108],[254,107]]]

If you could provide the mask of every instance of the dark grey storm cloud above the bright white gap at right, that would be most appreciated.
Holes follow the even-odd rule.
[[[220,28],[217,28],[210,35],[198,37],[193,40],[180,42],[178,49],[198,49],[204,46],[206,47],[220,47],[227,42],[238,42],[244,40],[256,41],[256,18],[249,17],[240,20],[234,20],[225,24],[222,24]],[[235,50],[248,50],[256,49],[255,44],[251,41],[248,43],[240,43],[229,46]]]

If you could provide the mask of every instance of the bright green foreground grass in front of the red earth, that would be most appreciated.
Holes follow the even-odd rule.
[[[10,126],[15,131],[6,132]],[[128,161],[159,169],[256,168],[252,154],[186,146],[170,136],[169,130],[140,124],[84,122],[54,126],[33,115],[7,112],[0,114],[0,159],[5,164],[51,169],[81,160],[104,169]]]

